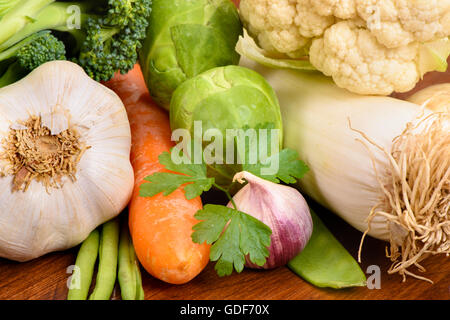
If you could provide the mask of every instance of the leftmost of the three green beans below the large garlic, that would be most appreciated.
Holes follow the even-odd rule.
[[[78,251],[67,300],[86,300],[91,287],[99,247],[99,232],[94,230]]]

